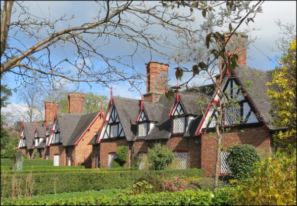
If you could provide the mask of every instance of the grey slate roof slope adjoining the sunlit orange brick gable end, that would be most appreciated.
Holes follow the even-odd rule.
[[[57,116],[63,146],[74,146],[76,141],[92,123],[98,112],[91,114],[62,114]]]

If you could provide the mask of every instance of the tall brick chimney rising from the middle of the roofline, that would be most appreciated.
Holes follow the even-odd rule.
[[[156,61],[146,63],[147,93],[144,94],[144,101],[155,103],[158,97],[167,91],[168,67],[168,64]]]

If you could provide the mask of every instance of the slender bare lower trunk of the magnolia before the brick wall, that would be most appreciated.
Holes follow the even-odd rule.
[[[220,172],[220,156],[221,156],[221,147],[222,147],[222,136],[219,129],[219,120],[217,118],[215,131],[217,136],[217,153],[216,153],[216,162],[215,162],[215,172],[214,172],[214,187],[213,190],[216,191],[219,186],[219,172]]]

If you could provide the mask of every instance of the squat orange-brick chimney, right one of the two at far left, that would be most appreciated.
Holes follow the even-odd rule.
[[[68,113],[83,114],[84,113],[85,94],[68,93]]]

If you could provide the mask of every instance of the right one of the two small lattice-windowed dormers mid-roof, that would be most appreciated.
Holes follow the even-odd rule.
[[[176,102],[171,113],[173,118],[172,134],[184,133],[186,131],[186,112],[183,105],[180,102]]]

